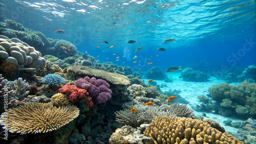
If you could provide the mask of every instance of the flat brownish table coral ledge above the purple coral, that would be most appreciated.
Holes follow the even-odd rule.
[[[73,72],[81,77],[89,76],[95,77],[97,79],[103,79],[112,84],[122,84],[129,85],[131,82],[129,79],[123,75],[109,73],[108,71],[100,70],[100,69],[92,69],[88,66],[75,65],[70,66],[68,68],[68,72]]]

